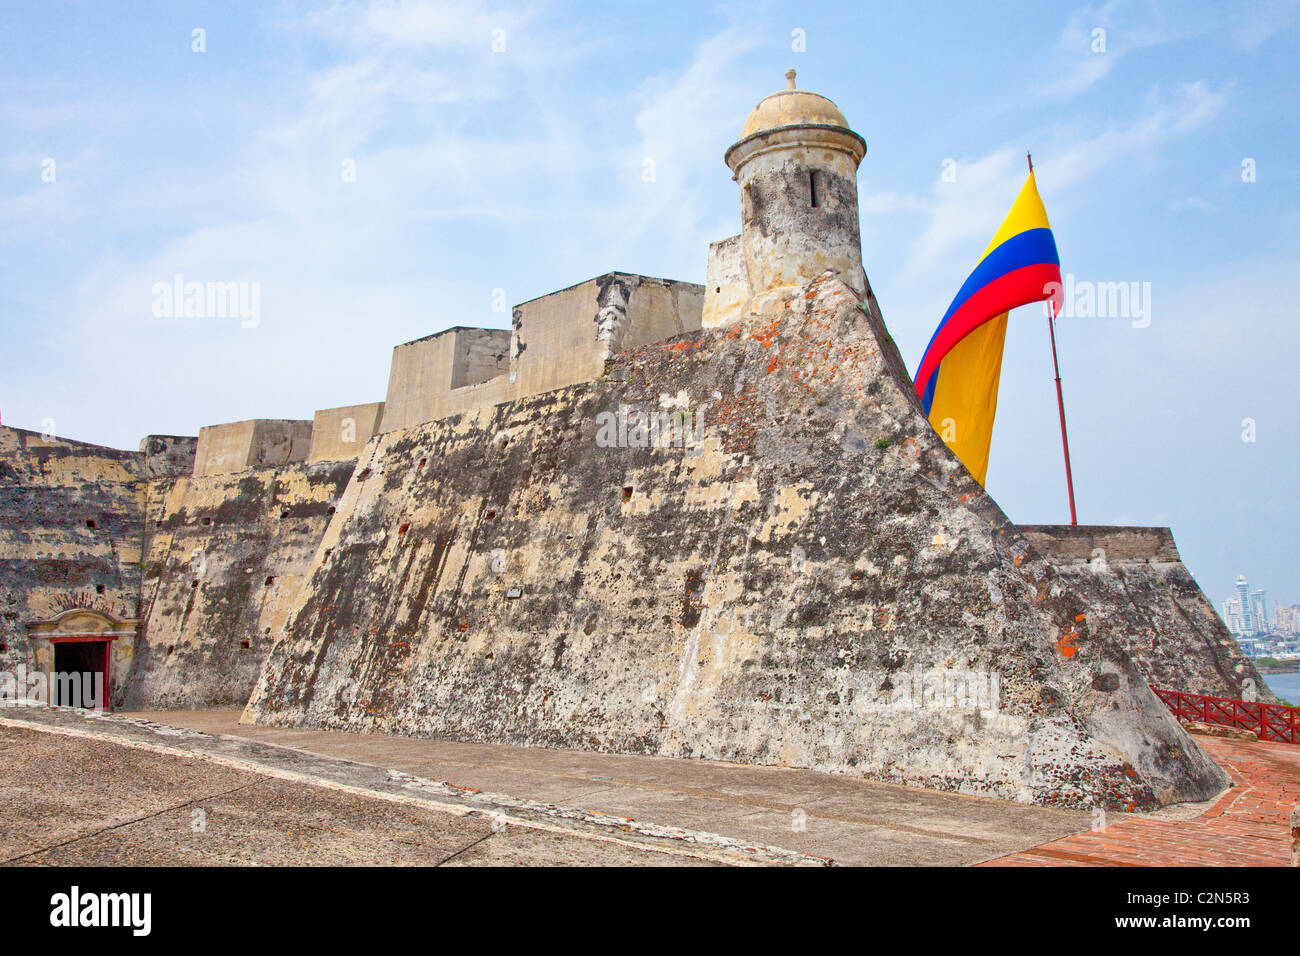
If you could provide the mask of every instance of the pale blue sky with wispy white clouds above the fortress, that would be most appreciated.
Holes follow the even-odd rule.
[[[723,151],[794,66],[867,139],[863,261],[909,367],[1032,150],[1062,271],[1150,284],[1149,324],[1058,326],[1080,520],[1173,527],[1216,601],[1244,572],[1300,602],[1297,60],[1295,3],[10,0],[0,418],[120,447],[311,418],[382,399],[399,342],[506,326],[497,290],[703,281],[738,230]],[[260,321],[155,317],[176,273],[257,282]],[[1039,307],[988,488],[1069,518]]]

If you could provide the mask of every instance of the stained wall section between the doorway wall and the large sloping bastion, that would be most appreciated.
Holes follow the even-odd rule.
[[[143,627],[124,708],[248,700],[354,466],[150,483]]]

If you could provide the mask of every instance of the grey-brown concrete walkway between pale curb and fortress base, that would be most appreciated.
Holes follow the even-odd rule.
[[[295,782],[424,795],[577,836],[616,831],[647,852],[712,862],[970,865],[1089,826],[1086,813],[809,770],[256,727],[238,718],[234,710],[0,711],[0,723],[181,748],[240,769],[291,771]],[[581,849],[569,840],[547,852],[580,862]]]

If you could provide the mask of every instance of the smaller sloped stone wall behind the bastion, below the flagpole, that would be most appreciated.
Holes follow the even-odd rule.
[[[1275,701],[1254,665],[1183,566],[1169,528],[1020,525],[1062,581],[1096,609],[1160,687]]]

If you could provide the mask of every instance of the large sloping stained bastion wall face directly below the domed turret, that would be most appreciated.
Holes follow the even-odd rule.
[[[703,420],[689,447],[597,441],[629,408]],[[603,381],[378,436],[307,575],[246,719],[1071,806],[1227,783],[835,278]],[[950,676],[992,700],[936,697]]]

